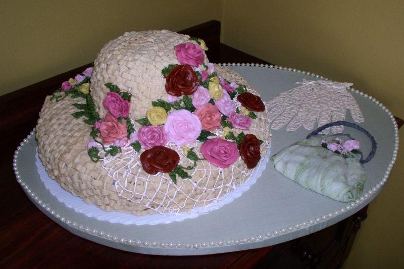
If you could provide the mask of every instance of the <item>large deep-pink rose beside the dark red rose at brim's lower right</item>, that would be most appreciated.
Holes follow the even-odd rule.
[[[218,137],[206,140],[200,151],[209,163],[221,168],[231,166],[239,156],[235,142]]]

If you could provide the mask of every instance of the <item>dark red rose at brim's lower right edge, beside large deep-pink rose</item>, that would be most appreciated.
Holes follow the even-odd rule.
[[[240,144],[240,156],[247,168],[255,168],[261,159],[260,140],[253,135],[247,134]]]

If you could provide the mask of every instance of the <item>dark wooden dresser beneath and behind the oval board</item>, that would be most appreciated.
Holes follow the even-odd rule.
[[[220,22],[210,21],[181,31],[206,41],[214,63],[270,64],[220,43]],[[337,268],[346,259],[367,206],[317,233],[279,245],[201,256],[157,256],[110,248],[75,236],[47,218],[28,199],[13,171],[13,153],[35,127],[46,95],[86,66],[0,96],[0,267],[1,268]],[[397,119],[402,125],[403,121]]]

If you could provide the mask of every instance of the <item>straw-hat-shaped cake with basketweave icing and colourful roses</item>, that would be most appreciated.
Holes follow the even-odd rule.
[[[167,30],[108,42],[45,100],[36,136],[49,176],[136,215],[192,211],[245,183],[270,148],[268,113],[206,49]]]

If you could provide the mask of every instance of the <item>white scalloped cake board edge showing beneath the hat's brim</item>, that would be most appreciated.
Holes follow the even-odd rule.
[[[257,179],[262,175],[263,170],[269,160],[270,147],[267,149],[267,153],[261,160],[259,165],[255,168],[255,171],[251,174],[251,177],[246,183],[236,186],[236,190],[219,198],[216,203],[211,203],[203,207],[196,207],[191,212],[179,212],[173,213],[155,213],[148,214],[146,216],[135,216],[130,213],[117,212],[117,211],[104,211],[94,204],[85,203],[80,197],[72,195],[70,192],[64,190],[55,180],[49,178],[45,168],[43,167],[38,152],[35,154],[36,167],[38,174],[46,189],[48,189],[52,195],[54,195],[60,202],[63,202],[67,207],[73,208],[76,212],[82,213],[87,217],[95,218],[99,221],[107,221],[110,223],[121,224],[134,224],[134,225],[156,225],[162,223],[171,223],[184,221],[186,219],[193,219],[201,214],[207,214],[212,210],[221,208],[223,205],[232,202],[243,194],[243,192],[249,190],[250,186],[256,183]]]

